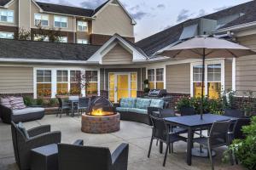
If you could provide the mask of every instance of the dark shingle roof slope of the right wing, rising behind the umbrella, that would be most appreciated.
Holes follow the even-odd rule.
[[[241,24],[246,24],[249,22],[256,21],[256,1],[250,1],[248,3],[242,3],[240,5],[226,8],[224,10],[218,11],[213,14],[207,14],[202,16],[201,18],[209,19],[209,20],[219,20],[224,17],[234,15],[234,14],[241,14],[239,17],[235,18],[235,20],[231,20],[230,22],[226,23],[224,26],[221,26],[218,29],[228,28],[230,26],[237,26]],[[193,20],[198,20],[193,19]],[[145,54],[149,57],[155,54],[162,48],[166,48],[167,46],[171,45],[174,42],[179,40],[183,32],[183,25],[186,23],[191,22],[192,20],[186,20],[183,23],[177,24],[176,26],[172,26],[164,31],[160,31],[150,37],[144,38],[136,42],[136,46],[141,48]]]

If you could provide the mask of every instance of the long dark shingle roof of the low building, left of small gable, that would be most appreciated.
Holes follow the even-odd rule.
[[[0,39],[0,58],[87,60],[100,46]]]

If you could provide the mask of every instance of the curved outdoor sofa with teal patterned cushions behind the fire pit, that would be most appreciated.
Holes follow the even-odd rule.
[[[116,105],[116,111],[119,112],[121,120],[151,125],[150,113],[167,107],[168,103],[163,99],[123,98]]]

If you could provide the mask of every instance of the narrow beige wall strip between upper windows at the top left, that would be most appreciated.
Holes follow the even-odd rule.
[[[19,5],[20,5],[20,20],[19,20],[19,26],[20,28],[26,29],[26,30],[30,30],[30,4],[31,4],[31,0],[22,0],[19,1]]]

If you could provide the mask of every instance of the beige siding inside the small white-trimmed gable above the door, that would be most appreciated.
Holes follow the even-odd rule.
[[[102,58],[103,65],[126,65],[131,63],[132,54],[119,45],[119,43]]]

